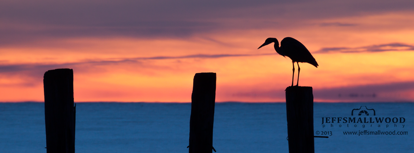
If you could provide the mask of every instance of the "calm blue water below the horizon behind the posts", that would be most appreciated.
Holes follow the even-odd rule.
[[[351,116],[352,109],[360,106],[374,108],[376,116],[372,112]],[[314,103],[315,136],[322,136],[316,131],[332,133],[329,138],[315,138],[315,153],[412,152],[413,108],[414,103]],[[77,103],[75,152],[188,153],[190,111],[190,103]],[[322,124],[322,117],[403,117],[405,121]],[[0,153],[46,153],[44,122],[44,103],[0,103]],[[364,130],[408,135],[343,135]],[[287,131],[285,103],[216,103],[213,146],[217,153],[288,153]]]

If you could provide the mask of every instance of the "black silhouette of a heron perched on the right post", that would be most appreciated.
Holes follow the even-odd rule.
[[[283,38],[282,41],[280,41],[280,47],[279,47],[279,41],[277,41],[276,38],[267,38],[265,43],[262,44],[257,49],[262,48],[263,46],[269,45],[272,42],[274,42],[274,50],[276,50],[277,53],[282,55],[283,57],[288,56],[292,60],[293,65],[293,74],[292,74],[292,86],[293,86],[293,79],[295,77],[295,62],[298,64],[298,81],[296,83],[296,86],[299,85],[299,73],[301,71],[301,68],[299,67],[299,62],[301,63],[309,63],[316,68],[318,68],[318,63],[316,62],[315,58],[313,58],[312,54],[306,49],[305,45],[303,45],[298,40],[292,38],[292,37],[286,37]]]

